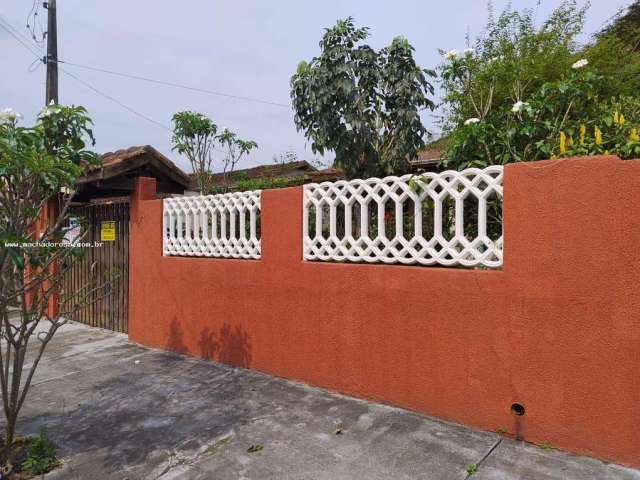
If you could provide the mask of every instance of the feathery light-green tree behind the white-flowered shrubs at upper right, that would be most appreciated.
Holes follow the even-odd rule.
[[[544,83],[558,80],[571,65],[584,9],[563,2],[540,27],[532,10],[490,11],[485,33],[462,52],[443,52],[439,68],[446,108],[445,130],[469,118],[504,117]]]

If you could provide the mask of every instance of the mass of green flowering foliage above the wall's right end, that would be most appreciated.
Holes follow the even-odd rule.
[[[624,77],[617,70],[632,58],[623,59],[629,50],[605,58],[593,46],[578,45],[585,13],[586,7],[565,1],[537,26],[532,11],[507,9],[495,20],[490,16],[473,48],[443,52],[447,167],[575,152],[634,155],[639,119],[632,100],[638,93],[631,86],[637,75]],[[614,128],[615,112],[627,121]]]

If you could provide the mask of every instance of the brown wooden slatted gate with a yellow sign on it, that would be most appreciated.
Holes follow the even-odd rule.
[[[84,255],[64,279],[65,292],[93,292],[71,320],[126,333],[129,296],[129,202],[124,200],[74,207],[70,229],[80,222],[89,228]],[[77,228],[77,227],[76,227]],[[101,286],[108,285],[105,288]],[[82,295],[78,296],[79,298]],[[88,301],[87,301],[88,300]],[[85,303],[83,302],[83,303]],[[68,310],[67,305],[65,310]]]

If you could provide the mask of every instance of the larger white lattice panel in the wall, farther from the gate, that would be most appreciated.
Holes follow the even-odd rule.
[[[304,186],[305,260],[502,265],[502,166]]]

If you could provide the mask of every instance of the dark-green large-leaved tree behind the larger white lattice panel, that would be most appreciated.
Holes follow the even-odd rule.
[[[368,28],[340,20],[326,30],[319,57],[301,62],[291,78],[298,130],[314,153],[335,152],[349,177],[402,171],[425,145],[419,113],[433,109],[431,70],[419,68],[402,37],[376,52],[361,42]]]

